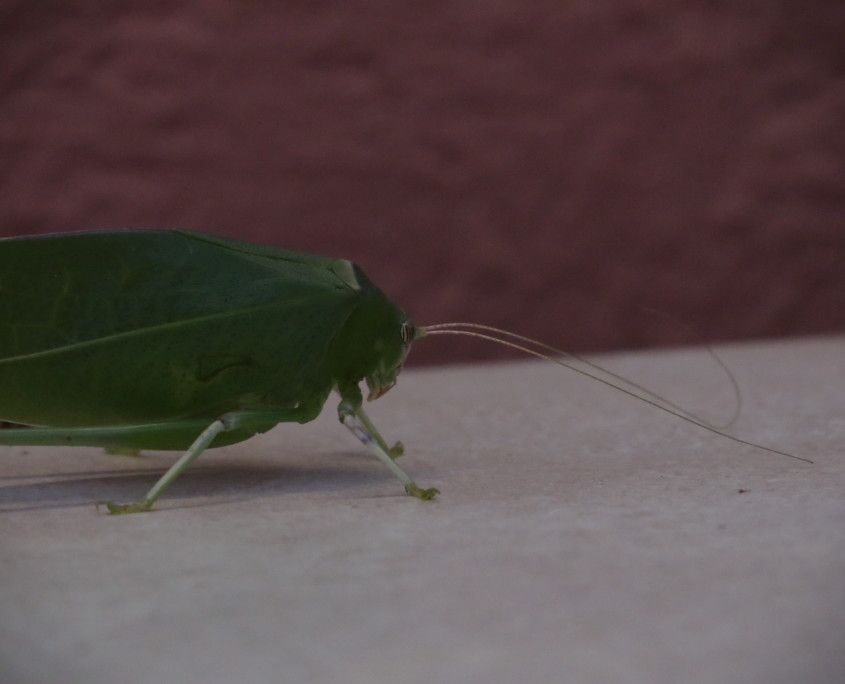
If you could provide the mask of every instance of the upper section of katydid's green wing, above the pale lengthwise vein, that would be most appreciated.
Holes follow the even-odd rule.
[[[0,359],[356,289],[349,262],[196,233],[0,240]]]

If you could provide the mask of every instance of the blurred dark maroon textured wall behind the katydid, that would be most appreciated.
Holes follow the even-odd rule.
[[[843,45],[840,0],[7,0],[0,235],[348,258],[576,352],[842,332]]]

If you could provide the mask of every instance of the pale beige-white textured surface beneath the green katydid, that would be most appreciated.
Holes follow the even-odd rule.
[[[845,338],[729,346],[712,436],[549,364],[406,372],[371,405],[424,503],[334,417],[209,452],[0,447],[3,682],[845,681]],[[700,350],[609,356],[714,419]]]

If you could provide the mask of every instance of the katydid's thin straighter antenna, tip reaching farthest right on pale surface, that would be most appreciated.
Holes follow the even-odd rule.
[[[466,330],[464,328],[471,328],[471,329],[474,328],[475,330],[484,330],[485,332],[476,332],[475,330]],[[651,392],[650,390],[647,390],[644,387],[641,387],[640,385],[638,385],[634,382],[631,382],[627,378],[624,378],[620,375],[612,373],[612,372],[602,368],[601,366],[599,366],[597,364],[585,361],[583,359],[576,357],[573,354],[563,352],[563,351],[558,350],[554,347],[551,347],[550,345],[546,345],[542,342],[538,342],[537,340],[533,340],[529,337],[524,337],[522,335],[517,335],[516,333],[511,333],[507,330],[501,330],[499,328],[494,328],[492,326],[482,325],[480,323],[439,323],[439,324],[436,324],[436,325],[421,326],[421,327],[418,327],[417,330],[419,331],[419,334],[417,335],[417,337],[426,337],[428,335],[463,335],[465,337],[475,337],[475,338],[482,339],[482,340],[488,340],[490,342],[496,342],[496,343],[504,345],[506,347],[510,347],[512,349],[517,349],[517,350],[519,350],[519,351],[521,351],[525,354],[530,354],[531,356],[536,356],[538,358],[545,359],[546,361],[551,361],[552,363],[556,363],[557,365],[563,366],[564,368],[568,368],[569,370],[575,371],[576,373],[579,373],[580,375],[583,375],[584,377],[590,378],[591,380],[595,380],[596,382],[600,382],[601,384],[607,385],[608,387],[612,387],[613,389],[615,389],[619,392],[622,392],[623,394],[627,394],[628,396],[633,397],[634,399],[639,399],[640,401],[643,401],[646,404],[649,404],[649,405],[651,405],[651,406],[653,406],[657,409],[660,409],[661,411],[664,411],[665,413],[668,413],[672,416],[675,416],[676,418],[680,418],[681,420],[685,420],[686,422],[691,423],[692,425],[696,425],[696,426],[698,426],[698,427],[700,427],[704,430],[708,430],[709,432],[712,432],[716,435],[719,435],[720,437],[724,437],[725,439],[730,439],[731,441],[737,442],[738,444],[744,444],[746,446],[754,447],[756,449],[762,449],[763,451],[768,451],[770,453],[778,454],[780,456],[786,456],[787,458],[793,458],[797,461],[803,461],[805,463],[812,463],[813,462],[808,458],[804,458],[803,456],[796,456],[795,454],[790,454],[786,451],[780,451],[779,449],[773,449],[772,447],[763,446],[762,444],[757,444],[755,442],[749,442],[747,440],[740,439],[739,437],[734,437],[733,435],[729,435],[728,433],[723,432],[719,428],[714,427],[714,426],[700,420],[695,415],[689,413],[688,411],[685,411],[684,409],[682,409],[679,406],[676,406],[672,402],[669,402],[666,399],[663,399],[660,395],[657,395],[657,394]],[[530,347],[527,347],[524,344],[512,342],[512,341],[507,340],[507,339],[501,339],[501,337],[495,337],[494,335],[488,334],[488,333],[496,333],[497,335],[501,335],[502,337],[507,336],[507,337],[510,337],[512,339],[517,339],[517,340],[520,340],[522,342],[526,342],[528,344],[533,344],[537,347],[540,347],[541,349],[546,349],[548,351],[552,351],[554,353],[560,354],[560,355],[565,356],[567,358],[573,359],[574,361],[586,363],[586,365],[590,366],[591,368],[594,368],[595,370],[607,373],[611,377],[613,377],[613,378],[615,378],[615,379],[617,379],[621,382],[626,383],[629,387],[633,387],[638,391],[641,391],[645,394],[648,394],[652,398],[649,399],[648,397],[641,396],[640,394],[637,394],[637,392],[633,391],[632,389],[626,389],[624,387],[621,387],[620,385],[618,385],[614,382],[611,382],[610,380],[606,380],[605,378],[599,377],[595,373],[591,373],[589,371],[586,371],[583,368],[578,368],[577,366],[574,366],[571,363],[567,363],[566,361],[562,361],[561,359],[556,359],[556,358],[550,356],[549,354],[544,354],[543,352],[539,352],[536,349],[531,349]],[[663,402],[663,403],[660,403],[660,402]],[[664,405],[664,404],[666,404],[666,405]]]

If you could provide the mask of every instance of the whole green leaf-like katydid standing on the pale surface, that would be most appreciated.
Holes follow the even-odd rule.
[[[103,502],[111,513],[135,513],[205,449],[311,421],[334,390],[340,421],[408,494],[431,499],[438,491],[395,463],[402,446],[379,434],[359,384],[368,399],[380,397],[411,343],[434,334],[549,358],[525,349],[527,338],[486,326],[417,327],[349,261],[178,230],[7,238],[0,421],[19,427],[0,429],[0,444],[184,451],[140,501]],[[724,435],[654,394],[600,381]]]

